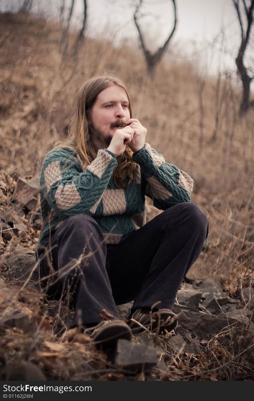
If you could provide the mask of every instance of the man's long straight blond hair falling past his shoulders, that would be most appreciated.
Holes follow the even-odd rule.
[[[118,85],[124,89],[129,101],[130,118],[132,118],[130,97],[124,83],[113,76],[93,77],[86,81],[77,92],[76,112],[69,127],[68,140],[55,144],[58,148],[65,147],[77,152],[83,162],[83,169],[97,156],[91,140],[92,136],[97,135],[100,137],[100,134],[95,132],[91,125],[89,113],[99,93],[111,85]],[[114,170],[113,178],[119,188],[126,188],[133,179],[133,170],[136,163],[132,160],[132,154],[132,150],[127,145],[124,153],[117,157],[118,164]]]

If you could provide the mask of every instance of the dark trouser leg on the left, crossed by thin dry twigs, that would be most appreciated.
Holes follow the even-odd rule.
[[[54,247],[55,243],[55,247]],[[96,221],[87,215],[66,219],[52,239],[52,263],[64,294],[72,294],[72,327],[102,320],[103,309],[118,318],[106,265],[106,243]],[[42,274],[47,273],[44,259]]]

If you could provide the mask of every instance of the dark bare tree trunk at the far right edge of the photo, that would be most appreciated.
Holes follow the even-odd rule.
[[[248,75],[247,68],[244,65],[244,53],[249,42],[250,30],[253,24],[254,0],[249,0],[250,4],[248,6],[246,4],[246,0],[242,0],[242,5],[244,8],[243,12],[240,10],[239,0],[232,1],[236,8],[238,21],[241,28],[241,45],[238,51],[238,56],[236,57],[236,66],[242,79],[243,95],[242,103],[240,105],[240,115],[243,115],[250,106],[254,106],[254,101],[250,102],[250,83],[254,76],[250,77],[250,75]],[[246,18],[246,23],[243,22],[243,18]],[[247,28],[245,27],[246,24]]]

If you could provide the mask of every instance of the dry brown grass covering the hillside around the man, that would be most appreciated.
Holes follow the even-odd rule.
[[[151,81],[138,51],[114,48],[102,38],[87,38],[74,60],[70,51],[75,38],[70,35],[63,57],[60,26],[29,15],[0,14],[0,37],[1,214],[12,210],[18,176],[34,176],[46,152],[66,138],[72,99],[81,83],[113,70],[128,87],[134,117],[148,129],[147,142],[193,177],[192,201],[209,218],[209,238],[189,276],[219,276],[232,294],[239,290],[239,275],[247,277],[244,285],[248,286],[254,271],[254,115],[250,111],[238,118],[240,93],[232,77],[203,81],[195,65],[169,59],[160,63]],[[41,229],[35,223],[38,208],[39,199],[34,210],[26,215],[20,211],[17,219],[25,230],[14,230],[11,239],[4,239],[0,230],[2,262],[18,243],[35,248]],[[150,201],[147,212],[148,219],[159,213]],[[167,379],[179,375],[176,371],[181,371],[181,379],[241,379],[241,364],[233,373],[228,368],[239,362],[233,346],[230,352],[227,346],[224,355],[223,345],[218,347],[216,341],[205,345],[206,356],[201,359],[206,360],[171,355],[173,376]],[[238,355],[242,349],[241,345]],[[96,369],[101,363],[99,358]],[[208,373],[201,375],[201,371]],[[219,376],[214,376],[217,371]]]

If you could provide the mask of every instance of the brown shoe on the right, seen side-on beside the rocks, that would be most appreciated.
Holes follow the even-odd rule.
[[[177,325],[177,315],[171,309],[159,309],[156,312],[142,312],[136,310],[129,320],[132,334],[148,330],[150,332],[166,333],[171,332]]]

